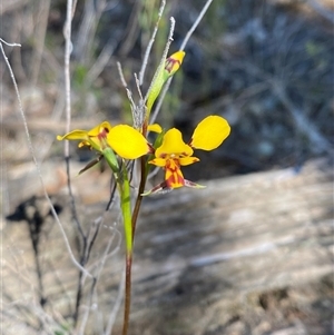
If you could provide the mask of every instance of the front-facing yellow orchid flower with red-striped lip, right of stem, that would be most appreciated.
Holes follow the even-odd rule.
[[[178,129],[169,129],[164,136],[161,146],[156,149],[155,158],[149,161],[149,164],[165,169],[165,180],[144,195],[167,191],[183,186],[204,187],[185,179],[180,166],[199,161],[197,157],[193,156],[193,148],[214,150],[222,145],[229,132],[228,122],[219,116],[209,116],[202,120],[197,125],[189,144],[184,142]]]

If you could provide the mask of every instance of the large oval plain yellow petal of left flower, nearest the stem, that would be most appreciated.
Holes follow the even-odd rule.
[[[127,125],[118,125],[107,135],[108,145],[125,159],[136,159],[149,152],[146,138]]]

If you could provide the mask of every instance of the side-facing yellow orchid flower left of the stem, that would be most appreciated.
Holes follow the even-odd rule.
[[[127,125],[111,127],[107,121],[90,130],[76,129],[58,140],[80,140],[79,147],[88,146],[102,152],[110,147],[118,156],[125,159],[136,159],[151,151],[146,138],[136,129]]]

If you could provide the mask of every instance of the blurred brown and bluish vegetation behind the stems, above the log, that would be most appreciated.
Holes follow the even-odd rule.
[[[60,131],[66,3],[17,0],[1,7],[1,37],[22,45],[6,47],[6,51],[30,124],[35,128],[40,125],[37,141],[52,132],[51,140]],[[203,4],[167,1],[144,92],[159,61],[169,17],[176,19],[173,52]],[[87,120],[87,126],[102,119],[131,122],[116,61],[121,62],[126,80],[136,92],[132,75],[140,69],[158,7],[157,0],[77,2],[71,55],[73,119]],[[307,159],[328,155],[333,144],[333,49],[331,1],[213,1],[186,47],[183,69],[158,118],[164,127],[177,126],[188,136],[209,114],[222,115],[232,124],[226,144],[200,156],[212,164],[200,170],[196,165],[189,167],[188,178],[299,168]],[[12,131],[17,107],[3,67],[1,81],[2,122],[7,125],[2,136],[23,141]],[[43,155],[59,155],[55,150],[48,148]],[[24,156],[13,157],[14,145],[4,151],[11,159]]]

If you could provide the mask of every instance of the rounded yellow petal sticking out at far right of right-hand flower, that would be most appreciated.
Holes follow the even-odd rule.
[[[209,116],[197,125],[189,145],[196,149],[213,150],[222,145],[229,132],[230,127],[224,118]]]

